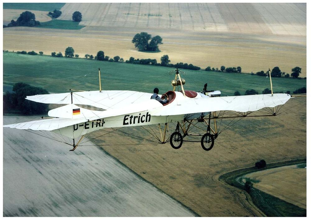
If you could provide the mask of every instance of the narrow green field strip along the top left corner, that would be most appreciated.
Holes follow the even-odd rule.
[[[66,3],[3,3],[3,9],[22,9],[37,11],[60,10]]]

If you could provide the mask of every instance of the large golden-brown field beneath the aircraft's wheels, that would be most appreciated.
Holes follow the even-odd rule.
[[[127,145],[139,142],[113,133],[95,143],[201,216],[263,216],[246,192],[218,178],[261,159],[275,163],[306,158],[306,98],[290,99],[282,111],[276,117],[242,119],[221,133],[208,152],[200,143],[185,142],[178,150],[169,143]],[[142,129],[132,129],[142,134]]]

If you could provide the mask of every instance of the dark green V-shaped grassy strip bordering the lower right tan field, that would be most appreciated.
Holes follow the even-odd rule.
[[[219,181],[229,184],[230,186],[235,186],[241,190],[244,190],[244,186],[241,185],[236,179],[240,176],[246,175],[251,172],[262,171],[266,169],[272,169],[277,167],[295,165],[299,163],[307,163],[307,159],[297,159],[297,160],[290,160],[290,161],[282,161],[277,163],[267,164],[267,166],[263,169],[258,169],[257,167],[248,167],[239,170],[234,170],[232,172],[223,174],[219,177]],[[294,216],[306,216],[306,209],[302,209],[294,204],[285,202],[282,199],[279,199],[273,195],[269,195],[261,190],[252,188],[251,192],[245,193],[248,202],[252,202],[258,209],[260,209],[265,215],[268,217],[279,217],[283,216],[284,214],[294,213]],[[267,203],[267,200],[273,201],[273,204]],[[267,205],[268,204],[268,205]],[[272,207],[270,207],[272,206]],[[286,206],[286,211],[283,212],[281,210],[282,206]],[[296,214],[296,215],[295,215]],[[292,216],[292,217],[294,217]]]

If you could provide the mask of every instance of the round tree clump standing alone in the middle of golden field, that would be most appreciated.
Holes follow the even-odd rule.
[[[132,39],[132,43],[138,48],[138,51],[158,52],[159,44],[162,43],[162,38],[159,35],[151,38],[151,34],[147,32],[137,33]]]

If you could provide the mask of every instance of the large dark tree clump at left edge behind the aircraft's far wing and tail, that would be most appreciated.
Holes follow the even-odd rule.
[[[49,94],[47,90],[21,82],[16,83],[12,90],[13,93],[6,92],[3,95],[4,111],[17,111],[25,115],[44,114],[48,111],[48,104],[25,99],[29,95]]]

